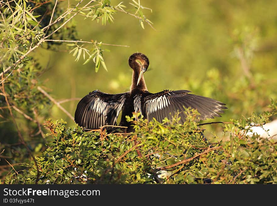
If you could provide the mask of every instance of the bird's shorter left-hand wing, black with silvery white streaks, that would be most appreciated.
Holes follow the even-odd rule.
[[[116,119],[129,92],[107,94],[95,90],[89,92],[77,104],[75,122],[87,129],[99,129],[103,125],[116,125]]]

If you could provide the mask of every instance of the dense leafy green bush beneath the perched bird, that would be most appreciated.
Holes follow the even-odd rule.
[[[271,106],[260,117],[277,114],[276,102]],[[248,119],[239,119],[225,124],[229,140],[212,143],[195,122],[197,111],[186,113],[184,124],[178,123],[178,116],[160,123],[134,114],[127,118],[135,129],[130,135],[85,132],[48,119],[44,125],[51,141],[36,158],[39,171],[24,164],[29,169],[8,175],[5,183],[277,183],[276,139],[247,136]],[[251,125],[260,124],[253,122],[256,118],[249,118]]]

